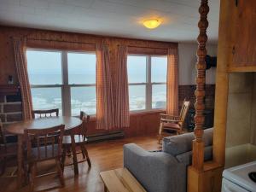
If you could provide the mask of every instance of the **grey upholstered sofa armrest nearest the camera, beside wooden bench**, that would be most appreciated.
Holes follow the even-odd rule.
[[[124,166],[148,192],[186,191],[186,166],[170,154],[125,144]]]

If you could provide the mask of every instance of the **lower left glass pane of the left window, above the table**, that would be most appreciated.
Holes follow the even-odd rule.
[[[33,109],[61,108],[61,88],[32,88]]]

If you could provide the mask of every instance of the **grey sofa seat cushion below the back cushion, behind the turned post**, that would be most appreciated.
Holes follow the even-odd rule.
[[[212,160],[212,146],[208,146],[205,148],[205,158],[204,160]],[[185,166],[191,166],[192,164],[192,151],[178,154],[176,156],[177,160],[181,163],[183,163]]]

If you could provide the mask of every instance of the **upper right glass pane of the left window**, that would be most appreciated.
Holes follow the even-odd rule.
[[[96,84],[96,55],[67,53],[68,83]]]

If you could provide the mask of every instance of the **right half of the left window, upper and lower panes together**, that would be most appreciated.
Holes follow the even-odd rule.
[[[71,114],[96,114],[96,55],[67,53]]]

